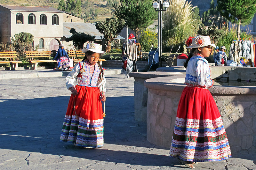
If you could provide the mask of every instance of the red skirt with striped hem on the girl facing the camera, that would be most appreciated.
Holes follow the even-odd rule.
[[[99,89],[76,85],[76,90],[78,94],[75,98],[71,94],[69,99],[60,141],[83,147],[103,146],[103,112]]]

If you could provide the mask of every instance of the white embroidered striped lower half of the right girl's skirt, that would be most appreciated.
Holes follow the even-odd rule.
[[[231,157],[228,138],[221,120],[177,118],[170,157],[185,161],[219,161]]]

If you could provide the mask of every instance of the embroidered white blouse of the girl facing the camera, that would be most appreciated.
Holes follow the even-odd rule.
[[[70,71],[70,73],[66,78],[67,88],[68,89],[75,88],[74,81],[76,79],[76,76],[79,74],[79,72],[81,72],[80,70],[82,70],[83,63],[84,63],[84,72],[81,76],[81,80],[80,80],[80,76],[77,79],[79,85],[91,86],[91,87],[97,86],[99,88],[100,94],[102,94],[102,92],[103,94],[105,94],[106,92],[105,76],[103,75],[101,80],[101,78],[99,78],[100,68],[98,64],[90,65],[87,60],[77,63],[74,69]]]

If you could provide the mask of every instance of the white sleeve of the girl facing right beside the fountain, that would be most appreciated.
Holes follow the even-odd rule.
[[[211,87],[213,85],[213,80],[211,77],[211,70],[208,63],[203,60],[198,60],[196,64],[196,77],[198,85],[204,87]]]

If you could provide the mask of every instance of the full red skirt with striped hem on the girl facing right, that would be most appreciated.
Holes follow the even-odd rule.
[[[177,110],[170,157],[193,162],[231,157],[220,112],[209,90],[184,88]]]

